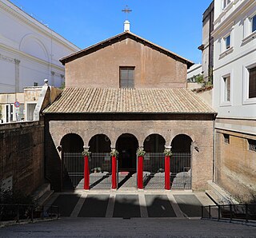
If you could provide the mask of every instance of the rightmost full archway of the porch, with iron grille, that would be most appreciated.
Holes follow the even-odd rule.
[[[172,188],[191,189],[191,147],[192,139],[179,134],[171,142],[173,156],[170,159]]]

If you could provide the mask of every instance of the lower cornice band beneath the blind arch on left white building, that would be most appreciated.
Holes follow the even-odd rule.
[[[20,51],[20,50],[16,50],[16,49],[14,49],[14,48],[10,48],[9,46],[6,46],[6,45],[2,44],[1,42],[0,42],[0,48],[2,48],[2,49],[4,49],[4,50],[8,50],[8,51],[10,51],[10,52],[12,52],[12,53],[14,53],[14,54],[18,54],[18,55],[20,55],[20,56],[22,56],[22,57],[24,57],[24,58],[27,58],[27,59],[29,59],[29,60],[31,60],[31,61],[38,62],[39,64],[46,65],[46,66],[49,66],[49,65],[50,65],[50,66],[54,67],[54,69],[58,69],[58,70],[60,70],[60,71],[63,71],[63,70],[64,70],[64,68],[61,67],[61,66],[54,65],[53,63],[50,63],[50,62],[48,62],[48,61],[44,61],[44,60],[42,60],[42,59],[40,59],[40,58],[36,58],[36,57],[34,57],[34,56],[30,55],[30,54],[26,54],[25,52],[22,52],[22,51]],[[7,56],[5,56],[5,55],[3,55],[3,54],[1,54],[1,58],[2,58],[2,59],[5,58],[5,59],[8,60],[8,61],[14,62],[14,58],[7,57]]]

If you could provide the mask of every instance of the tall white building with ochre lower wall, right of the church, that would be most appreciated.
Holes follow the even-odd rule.
[[[212,35],[215,181],[239,196],[256,191],[255,0],[215,0]]]

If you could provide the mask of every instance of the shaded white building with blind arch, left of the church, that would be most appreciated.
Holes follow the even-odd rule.
[[[40,86],[44,78],[61,86],[58,60],[79,48],[7,0],[0,0],[0,22],[0,93]]]

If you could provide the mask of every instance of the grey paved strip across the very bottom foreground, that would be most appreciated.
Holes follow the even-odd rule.
[[[256,237],[256,227],[177,218],[62,218],[0,228],[1,237]]]

